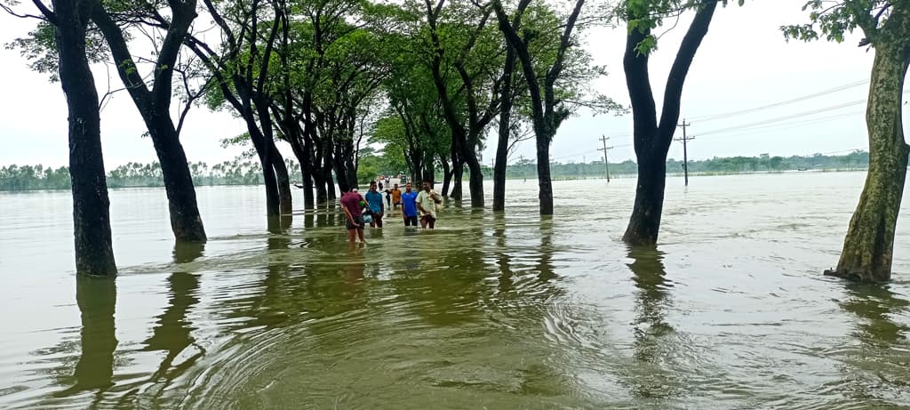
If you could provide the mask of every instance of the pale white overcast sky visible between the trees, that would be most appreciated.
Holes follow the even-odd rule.
[[[695,136],[689,146],[691,159],[867,149],[865,106],[859,101],[866,97],[868,85],[862,82],[869,77],[873,53],[856,46],[858,33],[840,45],[824,41],[786,43],[779,27],[804,23],[807,14],[801,11],[803,4],[801,0],[756,0],[743,7],[718,8],[682,95],[682,117],[689,118],[689,132]],[[24,36],[35,24],[8,15],[0,15],[0,22],[0,42],[4,44]],[[658,107],[666,74],[687,24],[683,18],[675,30],[662,36],[652,56],[652,87]],[[628,104],[622,75],[624,41],[623,28],[603,28],[591,31],[586,46],[596,63],[606,65],[611,73],[594,87]],[[2,49],[0,57],[0,77],[5,78],[0,98],[0,138],[5,139],[0,165],[66,165],[66,100],[59,84],[31,72],[17,51]],[[107,89],[104,68],[96,70],[96,83],[102,93]],[[120,87],[116,73],[111,84]],[[842,86],[851,87],[775,108],[718,116]],[[126,94],[114,97],[101,120],[108,169],[130,161],[156,159],[151,140],[140,137],[145,127]],[[189,114],[182,142],[191,161],[215,163],[234,158],[240,150],[222,149],[218,141],[244,130],[243,123],[230,114],[198,108]],[[633,159],[631,130],[631,115],[591,117],[581,113],[563,123],[552,146],[552,157],[561,162],[600,159],[598,138],[606,135],[615,147],[610,150],[611,162]],[[286,146],[281,149],[287,155],[291,153]],[[490,146],[484,152],[484,162],[489,163],[494,149]],[[533,152],[533,144],[528,142],[515,158],[532,158]],[[682,159],[682,145],[675,143],[670,157]]]

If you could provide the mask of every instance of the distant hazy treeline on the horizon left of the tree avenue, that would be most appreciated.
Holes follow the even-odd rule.
[[[300,178],[300,169],[288,162],[291,179]],[[262,183],[262,169],[258,160],[238,158],[209,167],[205,162],[189,164],[196,186],[206,185],[258,185]],[[163,187],[161,166],[157,162],[141,164],[130,162],[107,173],[110,188]],[[0,190],[68,190],[69,170],[66,167],[45,168],[42,165],[0,167]]]

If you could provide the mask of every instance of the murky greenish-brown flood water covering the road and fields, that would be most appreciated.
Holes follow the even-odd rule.
[[[116,281],[74,274],[68,192],[0,194],[0,407],[907,408],[910,201],[893,282],[820,273],[863,179],[669,179],[656,249],[620,241],[634,179],[363,250],[337,210],[265,233],[258,187],[200,188],[175,249],[163,190],[112,190]]]

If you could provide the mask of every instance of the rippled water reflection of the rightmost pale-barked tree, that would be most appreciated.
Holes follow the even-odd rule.
[[[910,397],[906,395],[910,387],[910,374],[906,371],[906,364],[910,363],[910,326],[892,319],[905,317],[910,302],[897,297],[890,286],[849,283],[847,299],[841,303],[844,311],[859,318],[853,335],[860,346],[850,351],[851,357],[844,361],[851,365],[845,367],[848,374],[843,382],[859,400],[879,398],[892,402],[888,398],[905,401]],[[849,347],[844,346],[847,350]]]

